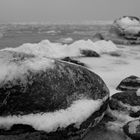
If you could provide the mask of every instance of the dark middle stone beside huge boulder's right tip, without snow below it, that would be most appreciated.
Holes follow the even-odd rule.
[[[129,107],[127,108],[125,105]],[[140,96],[137,96],[135,91],[116,93],[112,95],[109,107],[111,110],[125,112],[129,116],[137,118],[140,116]],[[137,111],[136,107],[139,107]]]

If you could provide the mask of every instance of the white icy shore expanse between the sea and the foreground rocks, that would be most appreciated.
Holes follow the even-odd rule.
[[[80,50],[96,51],[101,57],[81,57]],[[140,46],[115,45],[112,41],[78,40],[72,44],[53,43],[43,40],[39,43],[25,43],[16,48],[5,48],[50,58],[72,57],[97,73],[107,84],[111,95],[116,93],[120,81],[130,75],[140,77]]]

